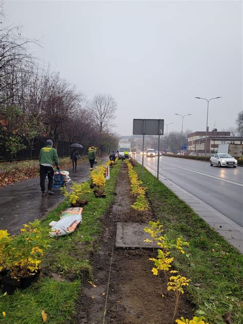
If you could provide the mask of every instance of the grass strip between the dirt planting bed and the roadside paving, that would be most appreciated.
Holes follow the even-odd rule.
[[[137,165],[135,170],[141,176],[141,166]],[[185,254],[174,253],[174,267],[192,279],[188,293],[195,313],[221,324],[222,316],[230,312],[232,323],[241,324],[242,255],[147,170],[144,185],[165,233],[170,238],[183,235],[190,243]],[[195,287],[194,283],[200,286]]]

